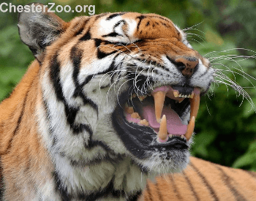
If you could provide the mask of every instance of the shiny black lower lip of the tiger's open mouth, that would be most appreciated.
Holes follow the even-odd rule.
[[[189,143],[186,140],[173,136],[165,143],[157,142],[157,134],[154,133],[153,129],[127,122],[120,106],[116,107],[112,120],[113,126],[127,151],[137,159],[144,161],[148,159],[148,154],[167,153],[167,151],[172,151],[174,156],[177,153],[188,153]]]

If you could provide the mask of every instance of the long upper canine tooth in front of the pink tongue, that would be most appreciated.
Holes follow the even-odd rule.
[[[161,120],[162,108],[164,107],[165,102],[165,94],[165,91],[156,91],[152,94],[154,97],[154,110],[158,123]]]

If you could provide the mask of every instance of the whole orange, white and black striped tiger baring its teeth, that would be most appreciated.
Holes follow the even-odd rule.
[[[35,60],[0,105],[1,200],[254,199],[254,172],[190,156],[214,68],[184,31],[32,6],[18,29]]]

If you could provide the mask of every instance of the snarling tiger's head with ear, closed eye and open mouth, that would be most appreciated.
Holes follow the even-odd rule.
[[[214,69],[171,20],[118,12],[66,23],[46,10],[21,13],[18,27],[40,64],[39,131],[53,158],[186,167]]]

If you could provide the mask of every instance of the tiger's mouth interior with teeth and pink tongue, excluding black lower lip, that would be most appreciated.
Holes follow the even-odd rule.
[[[165,143],[169,138],[189,140],[195,127],[200,105],[200,88],[161,86],[151,94],[132,97],[125,104],[124,116],[129,123],[149,126],[157,134],[157,141]],[[183,124],[181,115],[191,108],[189,124]]]

